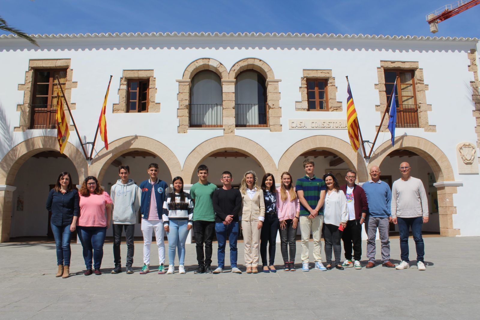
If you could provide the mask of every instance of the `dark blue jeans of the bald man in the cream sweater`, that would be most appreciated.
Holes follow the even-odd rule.
[[[417,249],[417,261],[423,261],[425,255],[425,246],[423,238],[421,237],[421,225],[423,224],[423,217],[416,218],[400,218],[397,217],[398,232],[400,233],[400,258],[403,261],[408,260],[408,234],[409,228],[412,228],[413,240],[415,241],[415,249]]]

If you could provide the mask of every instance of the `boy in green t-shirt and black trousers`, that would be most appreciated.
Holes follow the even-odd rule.
[[[198,182],[190,189],[195,204],[193,208],[193,236],[197,243],[198,268],[193,273],[212,273],[212,241],[215,234],[215,211],[212,196],[216,185],[208,182],[208,168],[200,165],[197,169]],[[205,255],[204,255],[205,243]]]

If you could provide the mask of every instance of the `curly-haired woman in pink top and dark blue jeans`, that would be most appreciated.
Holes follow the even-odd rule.
[[[84,248],[86,272],[92,274],[92,258],[95,274],[100,275],[103,258],[103,243],[112,218],[112,200],[108,193],[100,187],[95,177],[86,177],[80,194],[80,216],[78,217],[78,237]],[[107,217],[105,217],[107,211]]]

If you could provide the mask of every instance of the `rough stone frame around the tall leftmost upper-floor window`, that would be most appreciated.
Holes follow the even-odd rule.
[[[70,69],[72,59],[30,59],[28,61],[28,71],[25,71],[25,82],[18,84],[18,90],[24,91],[24,103],[17,105],[17,112],[20,112],[20,123],[18,127],[14,127],[15,132],[24,132],[26,130],[36,130],[30,128],[31,105],[33,98],[34,73],[36,70],[43,69],[66,69],[67,79],[65,83],[64,93],[65,99],[71,110],[75,110],[75,103],[71,103],[72,89],[77,88],[77,82],[72,81],[73,69]],[[64,106],[67,110],[67,106]],[[65,112],[68,123],[70,123],[70,113]],[[74,130],[73,126],[69,127]]]

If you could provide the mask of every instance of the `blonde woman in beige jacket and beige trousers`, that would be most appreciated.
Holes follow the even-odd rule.
[[[257,175],[247,171],[240,183],[242,197],[241,227],[247,273],[258,273],[260,234],[265,219],[264,192],[257,186]]]

